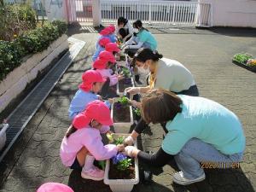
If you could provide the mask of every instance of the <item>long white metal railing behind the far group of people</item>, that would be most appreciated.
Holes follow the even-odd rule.
[[[106,24],[124,16],[150,25],[212,26],[211,3],[102,0],[101,10]]]

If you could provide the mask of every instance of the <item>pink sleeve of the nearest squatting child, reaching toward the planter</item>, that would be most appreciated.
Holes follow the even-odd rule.
[[[89,131],[88,137],[84,138],[84,146],[96,160],[108,160],[117,154],[116,145],[103,145],[100,131]]]

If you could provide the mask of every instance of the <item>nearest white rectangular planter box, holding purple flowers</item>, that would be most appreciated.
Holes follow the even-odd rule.
[[[114,134],[116,136],[125,136],[128,137],[129,134]],[[135,141],[134,146],[137,147],[137,141]],[[108,184],[110,189],[113,192],[130,192],[133,189],[133,186],[139,183],[139,169],[138,169],[138,160],[134,159],[135,165],[135,178],[134,179],[109,179],[108,172],[110,167],[110,160],[107,160],[105,174],[104,174],[104,183]]]

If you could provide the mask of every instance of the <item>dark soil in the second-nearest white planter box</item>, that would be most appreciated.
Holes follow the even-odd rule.
[[[121,106],[119,107],[119,102],[113,103],[113,122],[130,122],[130,107],[129,106]]]

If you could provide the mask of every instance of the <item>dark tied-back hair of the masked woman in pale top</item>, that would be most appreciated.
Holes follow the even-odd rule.
[[[147,60],[159,61],[161,58],[163,58],[163,55],[159,54],[156,50],[141,48],[133,56],[132,63],[135,63],[135,61],[146,62]]]

